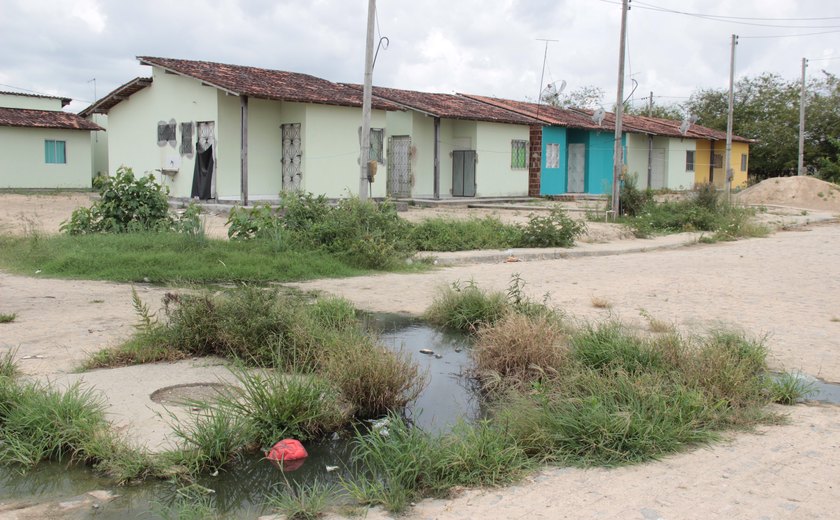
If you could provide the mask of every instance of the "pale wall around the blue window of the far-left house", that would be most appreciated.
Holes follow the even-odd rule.
[[[65,142],[65,164],[47,164],[44,141]],[[90,132],[0,127],[0,188],[90,188]]]

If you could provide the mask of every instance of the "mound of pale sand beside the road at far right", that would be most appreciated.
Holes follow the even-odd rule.
[[[747,188],[735,200],[742,204],[840,211],[840,186],[807,175],[774,177]]]

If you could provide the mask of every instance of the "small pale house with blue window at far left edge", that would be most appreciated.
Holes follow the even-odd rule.
[[[69,99],[0,92],[0,188],[90,188],[93,122]]]

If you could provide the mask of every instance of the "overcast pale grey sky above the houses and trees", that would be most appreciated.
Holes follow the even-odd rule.
[[[615,101],[620,2],[614,0],[379,0],[387,36],[374,83],[431,92],[534,99],[545,81],[605,90]],[[736,76],[840,74],[837,0],[634,0],[628,14],[627,85],[633,98],[684,101]],[[662,12],[743,17],[732,21]],[[0,90],[73,98],[78,111],[136,76],[136,56],[197,59],[363,79],[364,0],[0,0]],[[827,34],[748,38],[790,34]],[[833,59],[832,59],[833,58]],[[819,61],[816,61],[819,59]]]

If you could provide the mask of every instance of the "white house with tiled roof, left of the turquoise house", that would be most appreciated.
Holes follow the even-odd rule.
[[[386,116],[388,195],[527,197],[536,120],[464,96],[375,87]]]

